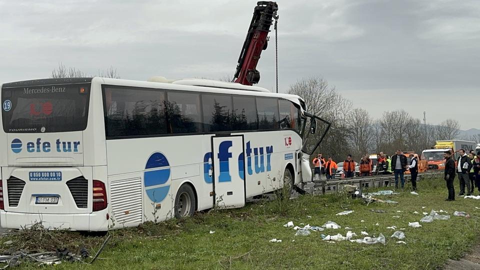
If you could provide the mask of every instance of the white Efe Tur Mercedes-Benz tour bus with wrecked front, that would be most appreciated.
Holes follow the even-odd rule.
[[[284,183],[311,180],[301,134],[307,118],[309,133],[321,119],[296,95],[199,79],[0,87],[4,228],[41,221],[104,231],[241,207]]]

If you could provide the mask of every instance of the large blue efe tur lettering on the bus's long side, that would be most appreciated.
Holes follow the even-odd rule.
[[[255,173],[261,173],[266,171],[271,170],[271,154],[273,153],[273,145],[270,146],[265,146],[265,147],[253,147],[251,148],[250,146],[250,141],[246,142],[246,171],[248,172],[248,175],[253,174],[253,170]],[[228,149],[232,146],[232,141],[231,140],[225,140],[220,142],[218,145],[218,159],[220,160],[219,164],[219,175],[218,175],[218,181],[219,182],[229,182],[231,181],[231,175],[230,175],[230,164],[229,164],[229,159],[232,157],[232,153],[228,151]],[[253,168],[252,168],[252,160],[251,160],[251,154],[253,152]],[[266,153],[266,168],[265,168],[265,155]],[[211,158],[212,154],[211,152],[205,153],[203,156],[203,179],[205,180],[206,183],[212,183],[212,178],[209,175],[209,169],[211,167]],[[243,164],[244,164],[244,156],[243,153],[238,154],[238,174],[241,179],[245,179],[245,172],[243,171]]]

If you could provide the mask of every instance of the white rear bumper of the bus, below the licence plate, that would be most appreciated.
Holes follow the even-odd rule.
[[[0,210],[2,228],[22,229],[41,221],[47,229],[105,231],[108,229],[107,210],[81,214],[18,213]]]

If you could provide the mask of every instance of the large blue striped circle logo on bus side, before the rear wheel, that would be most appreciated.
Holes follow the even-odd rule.
[[[165,199],[170,190],[169,178],[170,163],[166,156],[160,152],[152,153],[146,161],[143,172],[145,192],[151,201],[160,202]]]

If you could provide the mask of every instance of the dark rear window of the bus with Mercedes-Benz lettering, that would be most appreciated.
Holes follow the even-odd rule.
[[[86,128],[90,84],[3,87],[3,130],[65,132]]]

